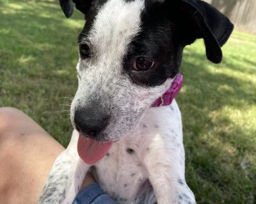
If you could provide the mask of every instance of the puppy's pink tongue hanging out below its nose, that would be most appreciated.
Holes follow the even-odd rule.
[[[86,164],[94,164],[108,153],[111,146],[112,142],[96,142],[79,135],[77,151]]]

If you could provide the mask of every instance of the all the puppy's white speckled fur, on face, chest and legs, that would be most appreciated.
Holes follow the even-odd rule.
[[[103,159],[88,166],[77,154],[79,133],[74,130],[67,150],[52,167],[38,203],[72,203],[88,170],[118,203],[195,203],[184,175],[179,107],[175,101],[170,106],[150,107],[173,79],[145,87],[134,84],[122,71],[127,46],[140,31],[143,6],[142,0],[109,0],[87,39],[97,57],[80,58],[77,64],[79,87],[71,106],[72,124],[76,108],[99,106],[111,115],[101,138],[117,142]]]

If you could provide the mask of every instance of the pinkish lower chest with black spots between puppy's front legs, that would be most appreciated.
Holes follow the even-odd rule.
[[[92,168],[102,189],[118,203],[134,203],[134,200],[143,193],[141,189],[144,191],[147,189],[152,193],[147,170],[143,165],[146,151],[147,141],[145,140],[116,143]]]

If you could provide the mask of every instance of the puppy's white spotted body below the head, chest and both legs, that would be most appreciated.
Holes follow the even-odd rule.
[[[140,125],[93,166],[77,154],[78,135],[73,132],[67,150],[54,163],[39,203],[72,203],[89,168],[118,203],[195,203],[184,177],[182,122],[175,101],[148,108]]]

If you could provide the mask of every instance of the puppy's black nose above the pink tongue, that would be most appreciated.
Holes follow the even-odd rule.
[[[74,123],[77,131],[96,138],[107,126],[108,116],[93,108],[80,108],[75,111]]]

